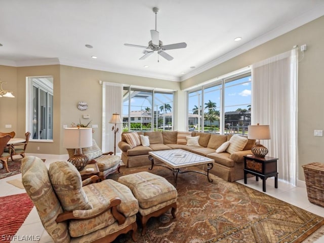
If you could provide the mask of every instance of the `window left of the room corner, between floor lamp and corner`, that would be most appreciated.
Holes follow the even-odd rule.
[[[173,92],[124,87],[124,131],[172,130]]]

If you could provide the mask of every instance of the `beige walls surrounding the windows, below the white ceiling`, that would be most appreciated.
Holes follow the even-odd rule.
[[[307,44],[307,51],[302,59],[299,57],[298,84],[298,178],[304,180],[302,165],[313,161],[324,162],[324,137],[314,137],[313,130],[324,130],[324,17],[318,18],[291,32],[281,35],[259,47],[232,58],[203,73],[184,80],[181,83],[160,79],[145,78],[106,71],[91,70],[63,65],[37,67],[0,66],[0,80],[8,82],[4,88],[15,93],[16,98],[0,98],[0,131],[17,131],[18,136],[25,132],[25,77],[38,75],[54,76],[54,143],[33,142],[28,145],[29,153],[65,154],[61,146],[63,125],[77,123],[83,114],[90,114],[92,124],[97,124],[94,138],[101,144],[102,87],[103,82],[122,83],[127,85],[164,88],[177,91],[175,113],[176,129],[185,129],[184,89],[190,88],[217,76],[230,73],[255,62],[291,50],[294,45]],[[89,109],[79,111],[78,101],[87,101]],[[3,116],[3,114],[6,116]],[[9,115],[7,115],[9,114]],[[12,129],[5,129],[12,124]],[[40,150],[36,150],[37,147]]]

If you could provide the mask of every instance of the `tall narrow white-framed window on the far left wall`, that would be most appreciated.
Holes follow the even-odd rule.
[[[53,141],[53,77],[27,77],[26,130],[31,140]]]

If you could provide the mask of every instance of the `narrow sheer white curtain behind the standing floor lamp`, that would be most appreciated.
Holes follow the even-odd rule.
[[[111,131],[113,124],[109,120],[113,113],[120,114],[123,119],[123,85],[103,82],[102,83],[102,151],[114,150],[114,133]],[[117,124],[119,132],[116,134],[116,153],[120,150],[117,146],[120,141],[122,124]]]

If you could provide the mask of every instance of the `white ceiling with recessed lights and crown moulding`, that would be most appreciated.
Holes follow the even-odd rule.
[[[0,0],[0,65],[63,64],[184,80],[324,15],[323,0]],[[155,28],[174,60],[139,60]],[[235,37],[242,37],[234,42]],[[93,46],[93,49],[85,45]],[[97,59],[91,58],[97,56]],[[145,68],[144,66],[148,67]],[[195,67],[195,68],[190,68]],[[185,74],[181,73],[185,72]]]

